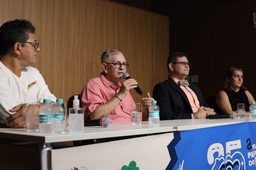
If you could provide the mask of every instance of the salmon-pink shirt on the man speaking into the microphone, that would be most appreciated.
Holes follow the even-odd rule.
[[[106,103],[119,92],[121,84],[116,89],[105,78],[103,73],[99,77],[89,80],[81,92],[81,104],[84,108],[84,117],[87,118],[97,106]],[[131,107],[134,103],[130,92],[123,98],[117,107],[108,115],[111,123],[132,122]]]

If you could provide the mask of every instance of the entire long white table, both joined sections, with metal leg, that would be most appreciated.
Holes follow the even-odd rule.
[[[50,143],[86,140],[86,139],[99,139],[109,137],[124,137],[143,134],[154,134],[164,132],[175,132],[181,130],[199,129],[213,126],[228,125],[234,123],[243,123],[253,121],[248,117],[244,119],[185,119],[185,120],[168,120],[160,121],[159,124],[148,124],[142,122],[141,124],[132,123],[111,123],[109,127],[84,127],[84,132],[75,133],[67,131],[63,134],[27,132],[26,129],[0,129],[0,138],[16,139],[24,141],[38,142],[39,152],[41,158],[41,169],[47,169],[51,165],[47,162],[49,155],[48,150],[51,149]],[[46,146],[46,147],[45,147]]]

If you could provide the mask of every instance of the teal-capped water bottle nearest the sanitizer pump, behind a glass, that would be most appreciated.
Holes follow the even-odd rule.
[[[63,100],[57,99],[56,106],[52,107],[52,115],[54,118],[51,119],[51,130],[52,133],[64,133],[67,127],[65,109],[62,106]]]

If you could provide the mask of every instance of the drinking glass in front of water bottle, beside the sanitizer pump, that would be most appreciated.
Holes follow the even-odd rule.
[[[62,102],[61,105],[52,103],[50,123],[52,133],[64,133],[67,127],[67,107],[65,102]]]

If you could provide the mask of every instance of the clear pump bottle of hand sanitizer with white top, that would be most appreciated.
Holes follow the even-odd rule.
[[[84,109],[80,108],[80,102],[78,96],[74,96],[73,107],[69,108],[69,131],[70,132],[82,132],[84,131]]]

